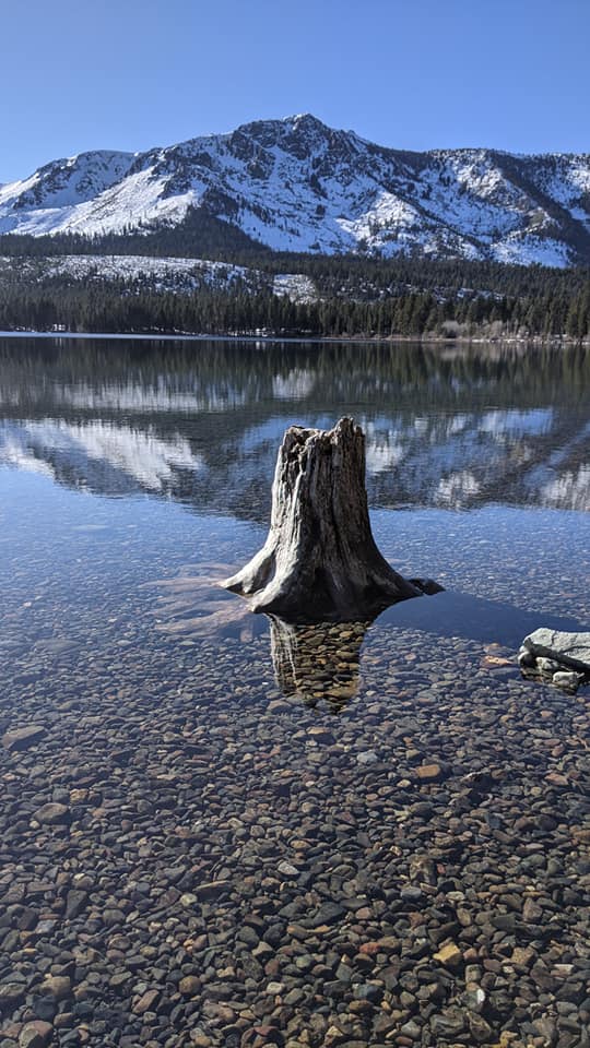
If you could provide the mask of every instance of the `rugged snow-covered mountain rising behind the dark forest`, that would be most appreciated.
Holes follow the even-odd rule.
[[[0,187],[0,233],[145,233],[194,212],[273,250],[588,264],[590,154],[411,153],[304,115]]]

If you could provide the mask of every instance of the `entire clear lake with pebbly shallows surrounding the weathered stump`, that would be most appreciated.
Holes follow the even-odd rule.
[[[516,654],[590,629],[589,389],[581,347],[0,338],[2,1046],[579,1048],[588,689]],[[343,415],[446,592],[253,616],[282,434]]]

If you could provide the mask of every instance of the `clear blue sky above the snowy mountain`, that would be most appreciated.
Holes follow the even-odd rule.
[[[1,7],[0,182],[296,112],[398,148],[590,152],[590,0]]]

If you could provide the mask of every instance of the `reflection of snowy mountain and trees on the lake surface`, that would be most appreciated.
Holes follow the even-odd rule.
[[[293,422],[353,415],[375,508],[590,509],[587,349],[0,341],[0,465],[263,522]]]

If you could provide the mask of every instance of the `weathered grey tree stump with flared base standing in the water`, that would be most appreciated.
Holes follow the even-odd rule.
[[[365,490],[365,438],[350,418],[327,431],[286,430],[267,541],[222,585],[246,597],[252,611],[292,622],[371,618],[397,600],[440,590],[403,579],[377,549]]]

